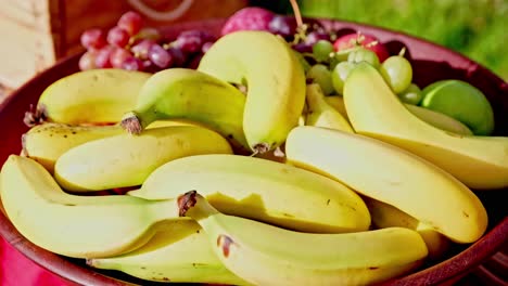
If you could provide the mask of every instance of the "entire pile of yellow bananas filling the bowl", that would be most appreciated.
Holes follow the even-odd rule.
[[[325,96],[301,61],[279,37],[237,31],[198,70],[54,82],[38,102],[52,122],[0,172],[7,214],[93,268],[234,285],[385,282],[483,235],[469,187],[508,185],[507,138],[404,105],[366,63],[344,100]],[[116,187],[139,188],[84,195]]]

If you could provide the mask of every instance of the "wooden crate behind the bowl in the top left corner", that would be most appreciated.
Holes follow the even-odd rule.
[[[0,0],[0,83],[17,88],[59,58],[80,50],[91,27],[115,25],[126,11],[140,12],[148,26],[226,17],[247,0]],[[174,17],[175,12],[181,15]]]

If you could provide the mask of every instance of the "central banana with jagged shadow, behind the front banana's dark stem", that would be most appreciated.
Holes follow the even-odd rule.
[[[361,198],[343,184],[306,170],[239,155],[198,155],[161,166],[141,188],[145,199],[176,198],[199,190],[215,207],[233,216],[305,232],[368,230]]]

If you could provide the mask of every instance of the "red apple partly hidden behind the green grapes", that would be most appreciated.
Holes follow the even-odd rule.
[[[386,47],[378,38],[366,34],[358,32],[342,36],[335,40],[333,47],[338,52],[350,48],[364,47],[374,52],[381,63],[390,56]]]

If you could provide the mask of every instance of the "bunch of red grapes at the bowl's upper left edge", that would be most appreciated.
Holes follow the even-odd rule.
[[[155,73],[169,67],[190,67],[216,40],[202,30],[180,32],[167,39],[152,27],[143,27],[141,15],[127,12],[107,31],[92,28],[82,32],[81,44],[87,49],[79,60],[81,70],[123,68]]]

